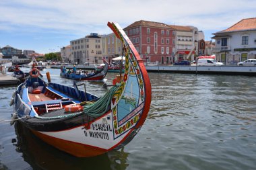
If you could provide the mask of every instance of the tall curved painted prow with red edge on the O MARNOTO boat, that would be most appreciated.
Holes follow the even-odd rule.
[[[108,22],[108,27],[123,42],[125,53],[123,81],[121,81],[111,105],[115,138],[126,132],[133,133],[126,139],[129,142],[145,122],[150,110],[151,84],[143,60],[119,24]]]

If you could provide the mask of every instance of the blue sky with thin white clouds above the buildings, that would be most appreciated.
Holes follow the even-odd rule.
[[[205,40],[244,18],[256,17],[256,0],[0,0],[0,47],[38,53],[60,51],[92,32],[112,33],[139,20],[195,26]]]

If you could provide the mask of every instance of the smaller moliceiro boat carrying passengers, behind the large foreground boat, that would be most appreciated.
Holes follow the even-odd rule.
[[[61,77],[65,79],[73,79],[76,81],[101,81],[106,77],[106,73],[108,73],[108,62],[103,60],[104,67],[99,71],[94,73],[79,73],[77,71],[73,71],[73,73],[69,73],[66,71],[65,67],[61,67]]]

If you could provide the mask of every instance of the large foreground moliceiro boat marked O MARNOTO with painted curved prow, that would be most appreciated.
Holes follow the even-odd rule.
[[[97,97],[73,87],[46,83],[38,73],[15,91],[18,121],[36,136],[75,157],[93,157],[129,143],[143,125],[151,85],[143,60],[119,24],[108,26],[123,42],[123,80]]]

